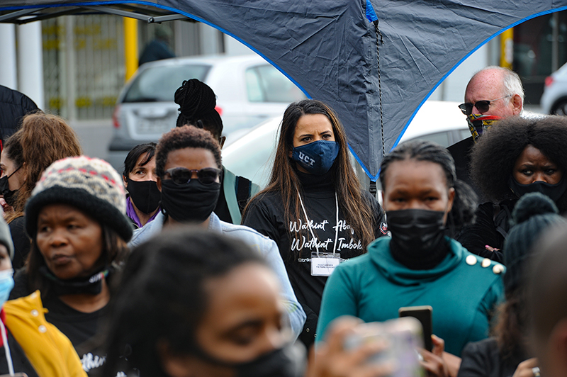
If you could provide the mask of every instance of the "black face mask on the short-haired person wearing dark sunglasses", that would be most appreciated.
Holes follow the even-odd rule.
[[[172,179],[162,181],[162,213],[179,223],[203,223],[207,220],[220,195],[220,183],[201,184],[191,179],[186,184],[175,184]]]

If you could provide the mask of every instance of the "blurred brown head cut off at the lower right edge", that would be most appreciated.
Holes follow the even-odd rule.
[[[567,225],[535,244],[539,253],[529,275],[532,348],[541,375],[567,376]]]

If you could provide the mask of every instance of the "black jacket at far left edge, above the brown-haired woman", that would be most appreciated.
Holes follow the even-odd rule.
[[[38,106],[28,96],[0,85],[0,149],[4,141],[18,130],[21,118],[37,110]]]

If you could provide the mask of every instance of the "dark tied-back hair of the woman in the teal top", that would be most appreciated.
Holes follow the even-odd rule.
[[[456,179],[453,157],[446,148],[434,142],[425,140],[404,142],[388,153],[380,166],[380,183],[383,188],[386,187],[386,179],[388,178],[386,173],[392,162],[406,159],[433,162],[442,167],[447,180],[447,189],[455,189],[453,208],[449,213],[448,223],[458,230],[474,221],[474,211],[478,203],[476,193],[464,181]]]

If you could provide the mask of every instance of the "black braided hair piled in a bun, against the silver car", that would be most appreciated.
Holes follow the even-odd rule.
[[[215,139],[223,133],[223,120],[215,109],[215,92],[204,82],[198,79],[183,81],[175,91],[174,101],[179,105],[177,127],[194,125],[208,130]]]

